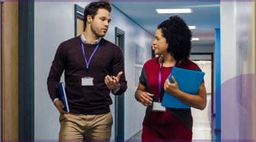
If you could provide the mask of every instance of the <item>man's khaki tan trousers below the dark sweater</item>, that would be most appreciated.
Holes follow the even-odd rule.
[[[61,114],[59,141],[109,141],[113,118],[103,115]]]

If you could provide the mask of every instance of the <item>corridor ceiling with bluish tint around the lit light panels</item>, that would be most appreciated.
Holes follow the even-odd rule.
[[[129,16],[151,35],[155,35],[156,27],[171,14],[158,14],[157,8],[191,8],[192,13],[178,14],[188,25],[195,25],[197,29],[191,29],[194,45],[213,45],[215,43],[215,28],[220,28],[220,1],[209,0],[181,0],[181,1],[112,1],[114,7]]]

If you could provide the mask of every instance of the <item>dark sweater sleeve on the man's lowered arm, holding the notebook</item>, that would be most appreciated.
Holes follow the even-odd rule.
[[[47,78],[47,88],[48,93],[50,95],[50,98],[52,99],[52,102],[54,102],[54,99],[60,98],[60,95],[58,94],[58,82],[61,80],[61,75],[65,69],[65,51],[64,51],[65,45],[61,43],[61,45],[58,46],[58,49],[56,51],[56,54],[54,56],[54,60],[52,61],[52,67],[50,68],[50,73]]]

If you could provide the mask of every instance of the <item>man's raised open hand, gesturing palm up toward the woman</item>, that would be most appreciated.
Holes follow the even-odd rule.
[[[109,88],[111,91],[115,91],[119,87],[119,80],[122,75],[122,71],[118,73],[118,75],[112,76],[112,78],[107,75],[105,77],[105,84],[107,85],[107,88]]]

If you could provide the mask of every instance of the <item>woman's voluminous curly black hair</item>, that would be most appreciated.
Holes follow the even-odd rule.
[[[175,60],[189,58],[192,33],[180,16],[170,16],[169,19],[158,25],[158,29],[167,39],[169,45],[167,51],[173,55]]]

